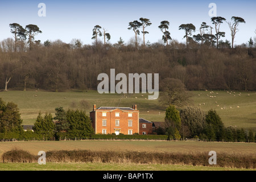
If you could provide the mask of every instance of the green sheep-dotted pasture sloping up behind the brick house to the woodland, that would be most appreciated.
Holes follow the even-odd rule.
[[[204,111],[215,109],[222,118],[225,126],[237,126],[256,131],[256,93],[236,93],[224,91],[196,91],[192,93],[192,104]],[[247,96],[250,94],[250,96]],[[200,96],[199,96],[200,95]],[[212,97],[210,97],[212,96]],[[158,100],[147,100],[147,94],[99,94],[97,91],[88,92],[35,92],[8,91],[0,92],[0,97],[6,101],[13,101],[18,105],[23,125],[33,125],[39,111],[43,114],[55,113],[55,108],[82,109],[89,114],[93,104],[100,106],[128,106],[138,105],[140,117],[150,121],[164,121],[166,106],[160,105]],[[135,98],[137,97],[137,98]],[[239,108],[237,107],[239,106]],[[222,108],[222,109],[221,109]]]

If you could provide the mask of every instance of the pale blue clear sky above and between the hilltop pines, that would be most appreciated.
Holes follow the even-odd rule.
[[[39,3],[46,4],[46,16],[39,17]],[[42,43],[49,40],[60,39],[70,43],[72,39],[81,39],[84,44],[92,44],[92,29],[96,24],[106,28],[111,35],[110,42],[116,43],[119,37],[128,42],[134,36],[134,32],[127,30],[129,22],[148,18],[152,25],[147,27],[150,34],[146,35],[146,41],[151,43],[162,39],[162,32],[158,26],[162,20],[170,22],[169,31],[172,39],[185,42],[184,32],[179,30],[180,24],[193,23],[196,32],[202,22],[212,25],[208,7],[210,3],[216,3],[217,16],[231,20],[232,16],[240,16],[245,19],[245,24],[240,24],[236,35],[235,44],[246,43],[250,37],[254,38],[256,29],[256,1],[81,1],[81,0],[34,0],[34,1],[0,1],[0,40],[11,38],[10,23],[19,23],[23,27],[27,24],[36,24],[42,30],[42,34],[35,37]],[[213,25],[212,25],[213,26]],[[221,31],[226,32],[226,37],[231,42],[230,30],[227,23],[221,25]],[[140,35],[142,38],[142,34]]]

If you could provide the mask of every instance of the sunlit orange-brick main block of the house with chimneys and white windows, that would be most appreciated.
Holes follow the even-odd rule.
[[[133,135],[139,133],[139,110],[133,107],[98,107],[90,111],[95,134]]]

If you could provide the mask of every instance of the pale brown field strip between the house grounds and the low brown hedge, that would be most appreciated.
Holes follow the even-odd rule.
[[[226,142],[170,142],[139,140],[70,140],[70,141],[31,141],[0,142],[0,156],[14,148],[22,149],[37,155],[39,151],[52,150],[93,150],[93,151],[147,151],[198,154],[216,151],[234,155],[255,155],[256,143]],[[1,159],[1,158],[0,158]],[[1,162],[1,160],[0,160]]]

